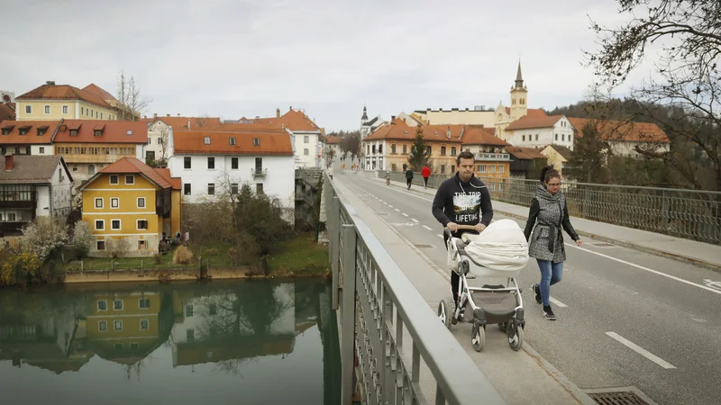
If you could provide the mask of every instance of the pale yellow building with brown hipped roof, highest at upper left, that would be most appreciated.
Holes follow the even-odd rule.
[[[102,96],[51,81],[15,97],[15,114],[17,121],[117,120],[117,112]]]

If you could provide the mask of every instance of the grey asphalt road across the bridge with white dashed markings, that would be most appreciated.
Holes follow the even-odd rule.
[[[343,183],[444,268],[431,195],[415,192],[418,185],[407,191],[361,175],[343,175]],[[703,288],[721,274],[584,242],[567,244],[563,280],[552,287],[558,320],[544,320],[534,301],[529,286],[540,274],[533,259],[519,277],[526,341],[582,389],[634,386],[659,404],[721,403],[721,289]]]

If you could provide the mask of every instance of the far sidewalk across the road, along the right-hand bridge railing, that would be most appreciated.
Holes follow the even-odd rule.
[[[386,182],[385,179],[376,177],[375,172],[373,172],[373,176],[366,173],[363,173],[363,176],[378,181],[379,183]],[[391,181],[390,183],[394,186],[406,188],[406,184],[401,182]],[[435,189],[429,187],[426,190],[422,185],[411,186],[411,191],[430,195],[430,198],[433,198],[435,195]],[[493,211],[501,215],[522,220],[528,218],[528,207],[509,204],[507,202],[494,201]],[[657,256],[669,257],[674,260],[690,263],[694,266],[702,266],[721,272],[721,246],[684,238],[675,238],[647,230],[625,228],[596,220],[584,220],[578,217],[570,217],[570,221],[573,224],[573,228],[576,229],[582,237],[594,238],[618,246],[629,247]]]

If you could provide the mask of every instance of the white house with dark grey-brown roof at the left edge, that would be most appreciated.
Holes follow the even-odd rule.
[[[21,235],[37,217],[66,219],[73,178],[59,156],[6,155],[0,171],[0,233]]]

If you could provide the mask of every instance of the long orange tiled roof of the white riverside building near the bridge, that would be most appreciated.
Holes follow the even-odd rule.
[[[232,137],[235,145],[230,144]],[[210,139],[210,145],[205,145],[205,138]],[[287,133],[182,130],[173,131],[173,139],[177,153],[293,156]],[[254,146],[253,139],[259,139],[258,146]]]

